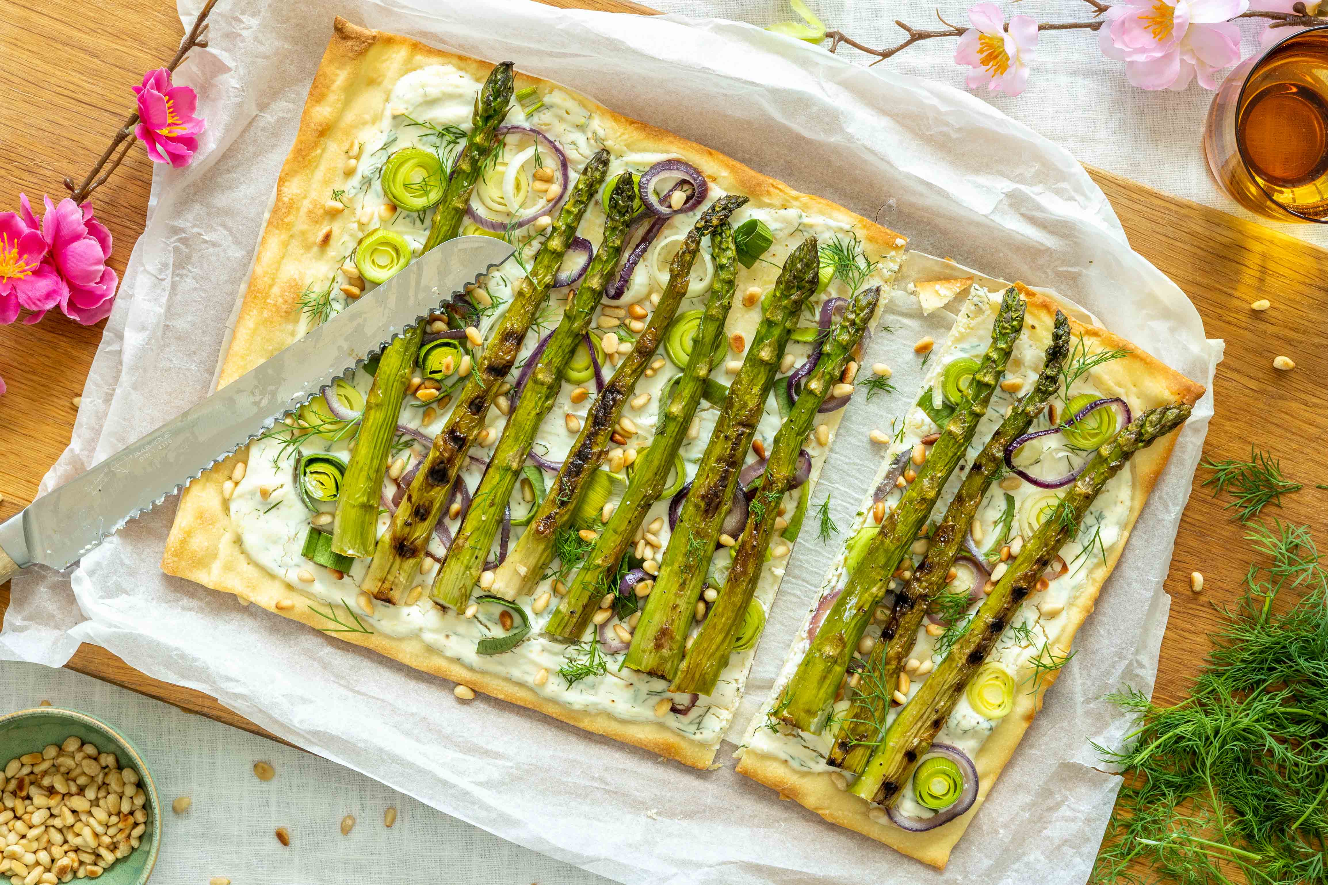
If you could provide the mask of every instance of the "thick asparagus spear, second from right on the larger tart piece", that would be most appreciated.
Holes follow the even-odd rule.
[[[683,661],[683,644],[696,617],[696,601],[720,527],[733,503],[742,459],[765,411],[789,333],[817,288],[818,255],[814,236],[789,253],[770,293],[770,306],[752,336],[742,368],[729,385],[729,395],[664,551],[655,589],[645,597],[645,609],[632,634],[627,666],[633,670],[672,679]]]

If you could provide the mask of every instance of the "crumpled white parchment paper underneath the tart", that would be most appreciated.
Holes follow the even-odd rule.
[[[197,7],[181,0],[181,17],[191,21]],[[915,248],[1052,287],[1199,381],[1211,381],[1220,358],[1181,291],[1129,249],[1078,163],[951,88],[728,21],[485,0],[227,0],[212,13],[210,48],[177,74],[199,92],[203,147],[189,169],[157,170],[73,442],[44,490],[208,393],[335,13],[514,58],[875,218]],[[894,366],[900,393],[855,399],[814,495],[814,504],[831,495],[841,524],[879,459],[867,431],[902,414],[916,390],[912,342],[940,322],[919,313],[892,299],[890,322],[903,328],[878,334],[869,361]],[[1162,579],[1210,414],[1211,395],[1080,633],[1078,657],[944,874],[738,778],[732,744],[721,770],[697,772],[497,701],[461,705],[445,682],[166,579],[158,560],[174,502],[90,553],[72,590],[61,575],[16,580],[0,655],[60,665],[80,641],[101,644],[308,750],[623,882],[1082,882],[1117,789],[1088,740],[1122,734],[1105,691],[1151,689],[1169,608]],[[814,539],[797,547],[730,734],[768,690],[831,552]]]

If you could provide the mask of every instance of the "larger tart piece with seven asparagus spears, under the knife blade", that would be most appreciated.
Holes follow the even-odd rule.
[[[515,251],[190,484],[162,568],[704,768],[904,239],[337,19],[219,383],[475,235]]]

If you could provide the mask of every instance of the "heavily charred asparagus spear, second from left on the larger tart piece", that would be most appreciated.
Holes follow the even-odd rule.
[[[466,452],[483,430],[485,415],[498,395],[498,385],[511,372],[526,332],[548,296],[548,288],[576,226],[607,171],[608,151],[602,150],[586,163],[558,220],[548,230],[548,239],[531,261],[530,272],[513,291],[511,303],[494,326],[489,345],[448,415],[448,423],[433,438],[429,454],[401,499],[392,524],[378,539],[373,563],[360,584],[374,598],[400,605],[414,586],[420,561],[429,547],[429,536],[438,524]]]

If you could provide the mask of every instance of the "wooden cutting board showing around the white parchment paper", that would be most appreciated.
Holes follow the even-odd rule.
[[[622,0],[546,0],[551,5],[651,13]],[[133,21],[133,38],[121,24]],[[19,191],[64,192],[64,175],[81,178],[124,121],[142,72],[174,53],[181,25],[174,4],[161,0],[108,0],[93,15],[77,4],[0,0],[0,89],[9,96],[0,115],[0,211],[16,208]],[[1183,138],[1198,138],[1186,133]],[[1282,459],[1305,490],[1268,512],[1309,524],[1328,544],[1328,251],[1308,245],[1226,212],[1182,200],[1089,169],[1106,191],[1134,248],[1170,276],[1203,316],[1208,337],[1226,340],[1226,360],[1214,383],[1216,418],[1208,430],[1208,458],[1242,458],[1251,443]],[[1195,161],[1195,175],[1207,174]],[[124,271],[142,234],[151,165],[138,149],[96,195],[97,216],[116,239],[112,265]],[[795,186],[797,182],[793,182]],[[1272,309],[1250,304],[1270,299]],[[42,474],[69,442],[77,417],[70,398],[82,391],[102,324],[77,326],[49,316],[36,326],[0,326],[0,520],[28,504]],[[1129,329],[1121,330],[1129,337]],[[1278,372],[1272,358],[1295,360]],[[1171,573],[1171,621],[1162,646],[1155,699],[1174,703],[1208,649],[1206,633],[1220,622],[1214,604],[1236,597],[1251,556],[1243,531],[1208,490],[1207,471],[1195,476],[1194,495],[1181,523]],[[1190,592],[1190,573],[1203,572],[1204,592]],[[0,585],[0,617],[9,586]],[[85,645],[70,669],[151,695],[190,713],[267,734],[212,698],[158,682],[110,654]],[[37,698],[23,699],[36,702]],[[56,699],[58,701],[58,699]],[[272,736],[272,735],[267,735]]]

